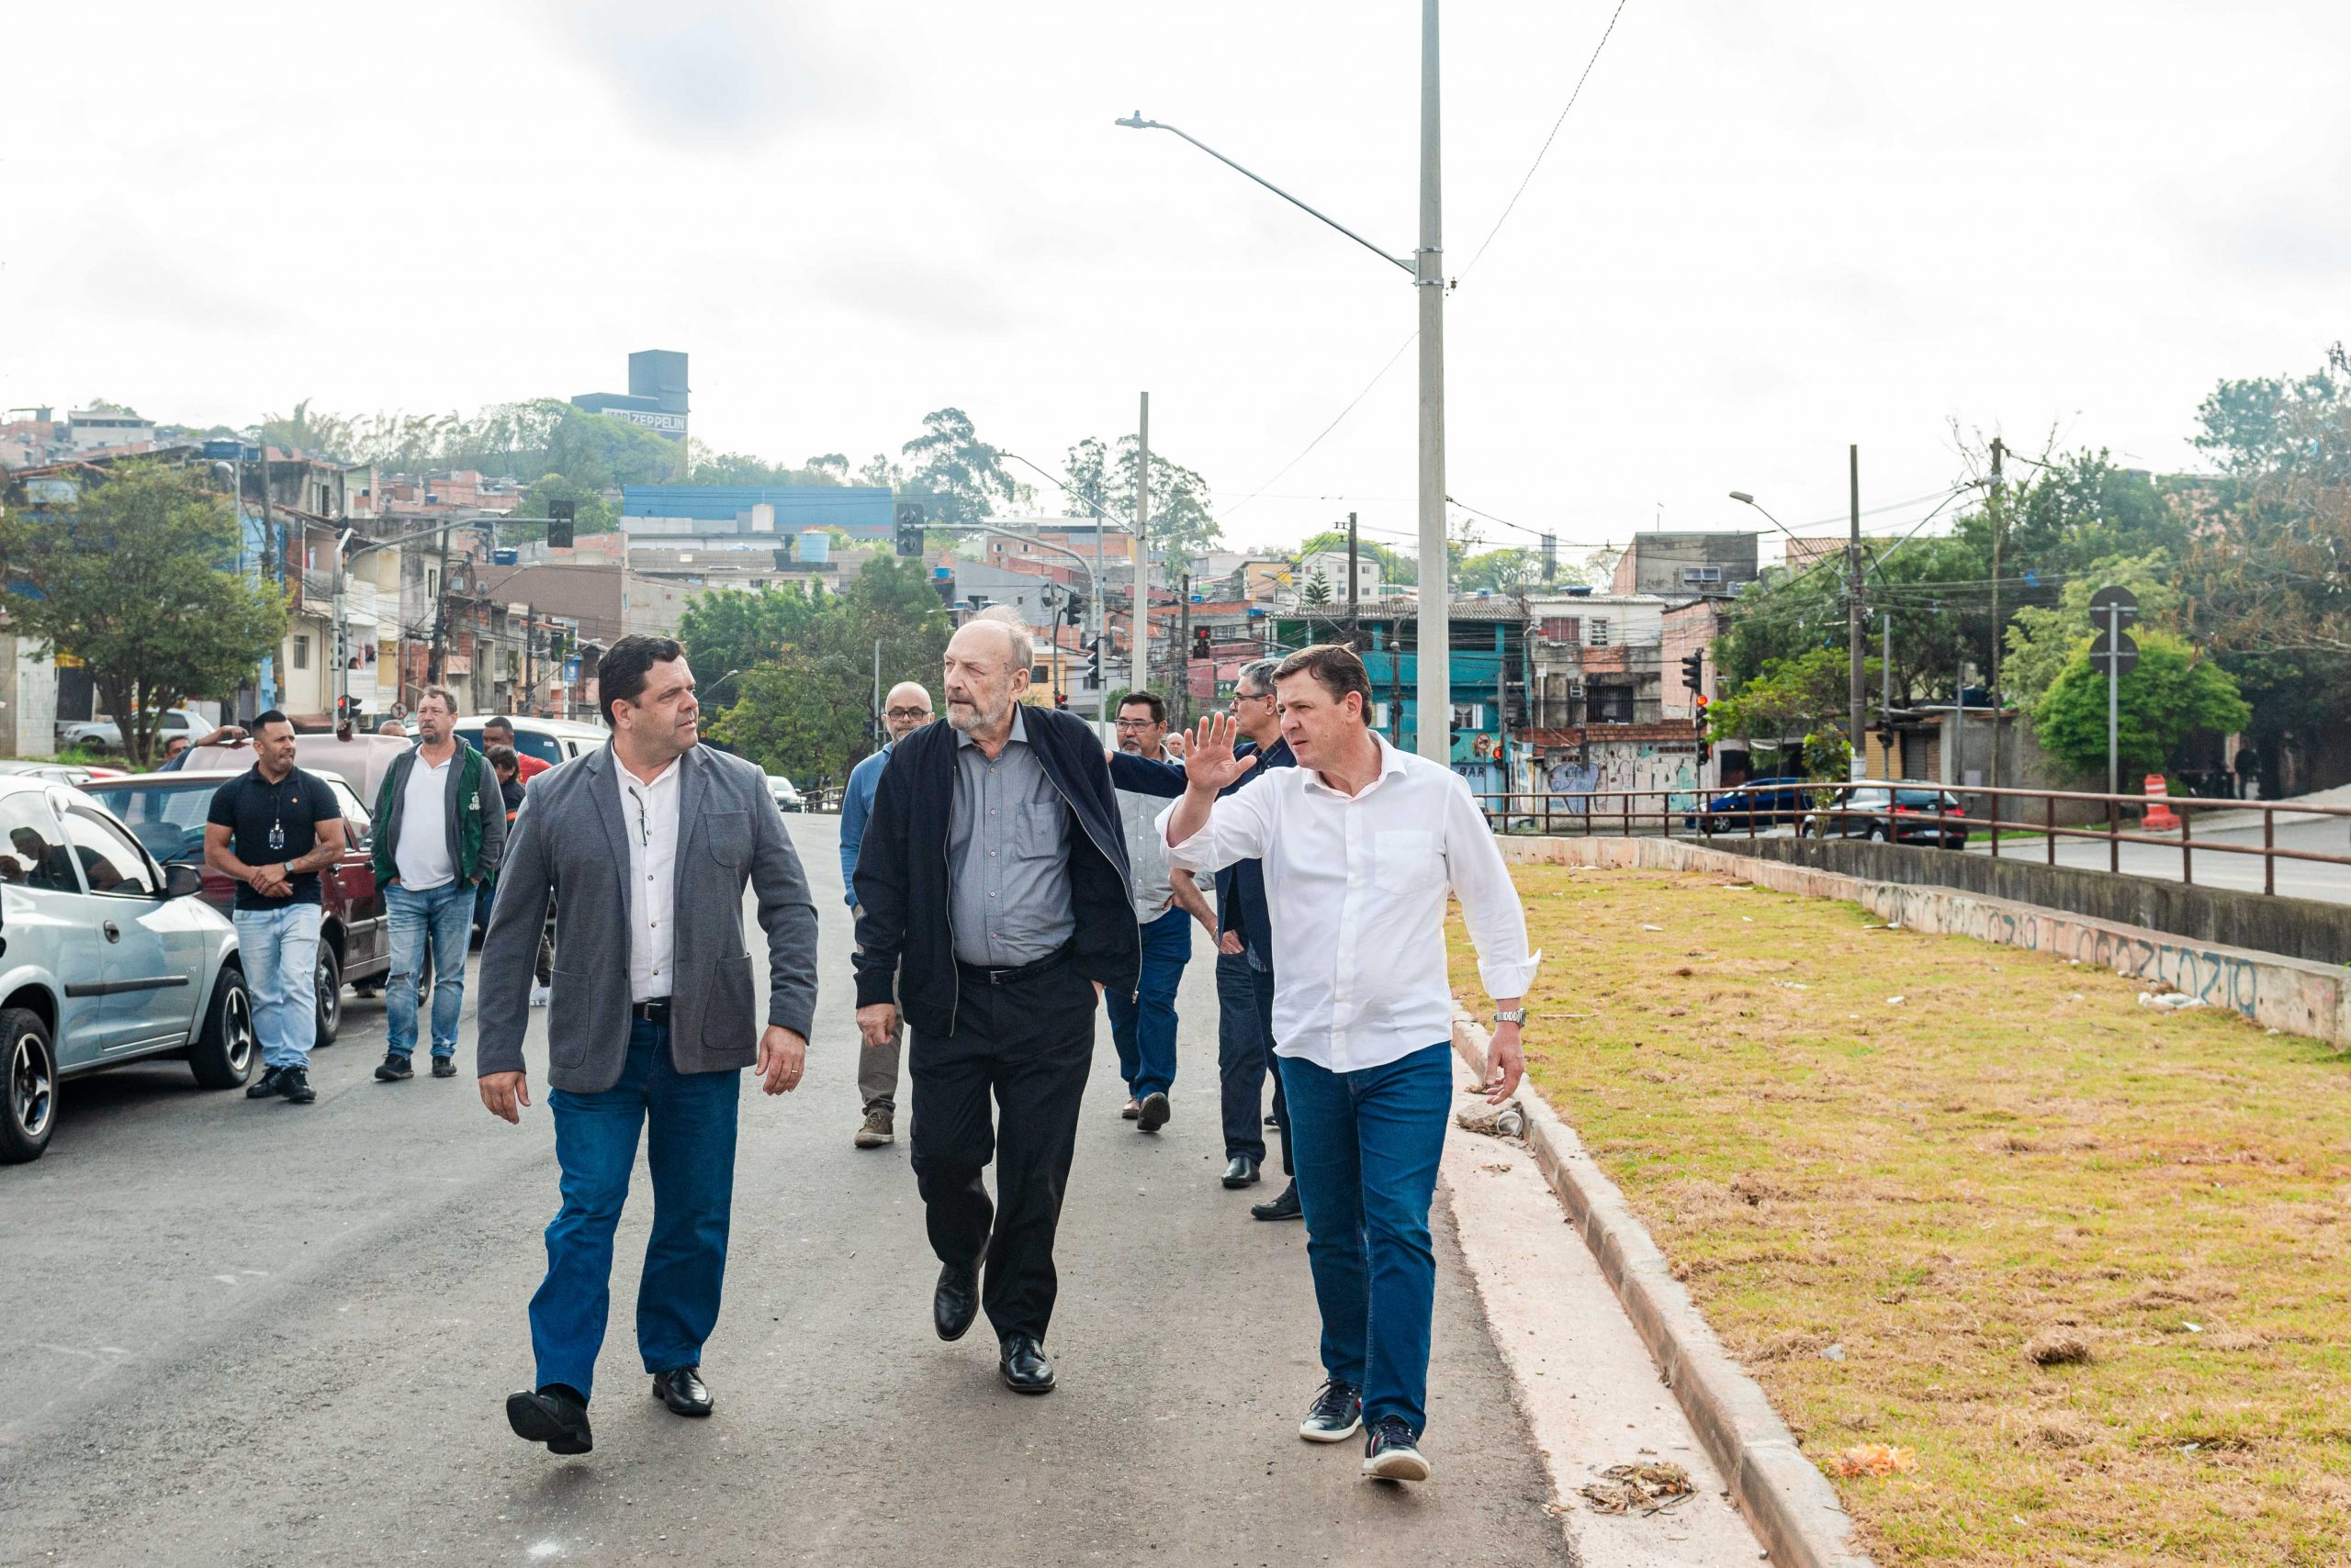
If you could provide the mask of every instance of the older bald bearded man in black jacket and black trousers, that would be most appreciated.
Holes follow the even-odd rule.
[[[912,1025],[938,1338],[964,1338],[985,1305],[1004,1382],[1044,1394],[1093,1004],[1112,985],[1136,994],[1143,938],[1103,743],[1072,715],[1020,705],[1032,658],[1027,632],[1004,621],[971,621],[947,644],[947,722],[898,741],[875,788],[856,971],[865,1044],[896,1032],[900,1006]],[[990,1152],[994,1206],[980,1180]]]

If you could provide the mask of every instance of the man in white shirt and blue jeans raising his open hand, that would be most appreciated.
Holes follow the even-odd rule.
[[[1199,724],[1185,795],[1159,818],[1178,867],[1265,860],[1274,1053],[1291,1110],[1326,1382],[1298,1434],[1366,1429],[1364,1474],[1425,1481],[1429,1199],[1453,1103],[1446,893],[1495,999],[1486,1091],[1519,1088],[1519,999],[1540,954],[1469,785],[1368,726],[1371,677],[1345,646],[1274,670],[1298,766],[1218,797],[1255,764],[1225,717]]]

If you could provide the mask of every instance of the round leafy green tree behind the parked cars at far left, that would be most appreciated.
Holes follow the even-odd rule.
[[[89,668],[122,750],[146,766],[165,710],[230,691],[284,639],[277,588],[226,569],[240,545],[228,498],[195,473],[118,463],[71,508],[7,508],[0,602],[19,635]]]

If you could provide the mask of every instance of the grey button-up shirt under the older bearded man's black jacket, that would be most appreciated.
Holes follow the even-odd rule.
[[[955,872],[947,914],[955,957],[964,964],[1034,964],[1060,952],[1077,931],[1070,802],[1030,750],[1020,708],[1013,708],[1013,736],[994,762],[971,736],[955,736],[947,865]]]

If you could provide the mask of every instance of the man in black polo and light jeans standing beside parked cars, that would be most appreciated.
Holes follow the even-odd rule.
[[[343,809],[334,790],[294,766],[294,719],[275,708],[254,719],[254,771],[212,792],[205,865],[237,879],[237,957],[254,999],[261,1081],[247,1098],[310,1088],[317,1037],[317,872],[343,853]]]

